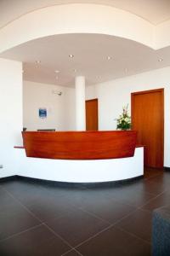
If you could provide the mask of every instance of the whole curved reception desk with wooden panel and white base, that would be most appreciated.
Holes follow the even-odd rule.
[[[65,183],[103,183],[144,174],[136,131],[24,131],[18,175]],[[25,153],[26,150],[26,153]]]

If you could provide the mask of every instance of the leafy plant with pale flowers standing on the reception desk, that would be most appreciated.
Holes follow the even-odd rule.
[[[129,130],[131,128],[131,117],[128,114],[128,104],[127,107],[122,108],[122,114],[116,119],[116,129],[117,130]]]

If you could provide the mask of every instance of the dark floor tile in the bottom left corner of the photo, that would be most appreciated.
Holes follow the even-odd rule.
[[[2,256],[58,256],[69,249],[71,247],[43,225],[0,241]]]

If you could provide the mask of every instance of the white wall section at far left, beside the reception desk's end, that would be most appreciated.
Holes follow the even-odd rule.
[[[0,59],[0,177],[15,174],[14,145],[22,143],[22,63]]]

